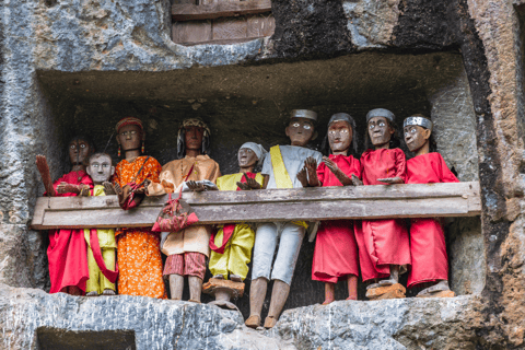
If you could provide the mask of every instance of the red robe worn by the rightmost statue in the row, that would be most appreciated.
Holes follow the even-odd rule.
[[[428,153],[407,162],[407,184],[458,183],[440,153]],[[412,266],[408,287],[448,280],[445,235],[438,219],[412,219],[410,225]]]

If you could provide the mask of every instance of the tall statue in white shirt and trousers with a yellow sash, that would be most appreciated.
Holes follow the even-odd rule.
[[[265,176],[264,188],[302,187],[298,173],[303,168],[306,159],[313,156],[318,163],[323,159],[320,152],[305,148],[316,137],[316,120],[315,112],[306,109],[292,112],[285,129],[291,145],[275,145],[270,149],[261,171]],[[260,325],[260,312],[270,272],[273,290],[265,327],[271,328],[276,325],[290,292],[295,262],[307,228],[305,221],[269,222],[257,228],[249,291],[250,316],[246,319],[246,326],[257,328]],[[277,257],[272,264],[277,247]]]

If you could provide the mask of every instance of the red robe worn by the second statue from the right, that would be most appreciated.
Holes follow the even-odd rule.
[[[377,178],[406,180],[406,159],[400,149],[368,150],[361,156],[364,185],[385,185]],[[410,264],[410,244],[404,220],[363,220],[355,224],[363,281],[390,275],[389,265]]]

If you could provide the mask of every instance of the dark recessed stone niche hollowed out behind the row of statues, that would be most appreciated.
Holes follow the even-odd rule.
[[[411,114],[431,117],[438,150],[448,167],[455,170],[462,182],[478,180],[475,112],[462,56],[453,51],[362,52],[325,60],[164,72],[40,71],[38,79],[49,102],[48,118],[52,119],[43,152],[48,155],[54,178],[68,171],[65,147],[73,133],[91,136],[98,151],[108,144],[107,152],[117,162],[114,127],[125,116],[143,120],[147,154],[161,164],[176,159],[179,122],[187,117],[201,117],[211,127],[210,156],[220,164],[222,174],[231,174],[237,172],[236,152],[244,142],[258,142],[267,150],[273,144],[287,144],[284,127],[294,108],[318,113],[319,137],[311,144],[313,148],[319,147],[332,114],[351,114],[357,121],[359,153],[362,153],[365,115],[372,108],[383,107],[394,112],[399,130],[402,119]],[[410,158],[405,147],[404,150]],[[40,184],[38,177],[34,180]],[[38,186],[42,196],[43,185]],[[300,205],[295,206],[300,212]],[[368,206],[372,210],[373,201]],[[249,210],[257,211],[257,203],[252,203]],[[485,287],[479,211],[478,208],[469,218],[445,220],[450,282],[457,295],[479,294]],[[42,235],[45,237],[46,233]],[[324,284],[311,278],[313,252],[314,243],[305,237],[285,310],[324,300]],[[42,272],[45,264],[42,260]],[[208,272],[205,281],[209,277]],[[406,275],[404,278],[401,282],[406,284]],[[45,281],[42,276],[40,285],[46,290],[49,285]],[[249,273],[245,282],[246,295],[234,303],[247,317]],[[407,296],[417,292],[408,290]],[[268,311],[270,293],[268,288],[262,317]],[[342,283],[336,288],[338,300],[345,299],[346,293]],[[365,300],[364,293],[364,285],[360,284],[360,300]],[[125,296],[110,299],[119,298]],[[187,291],[183,299],[188,299]],[[203,302],[210,300],[203,294]]]

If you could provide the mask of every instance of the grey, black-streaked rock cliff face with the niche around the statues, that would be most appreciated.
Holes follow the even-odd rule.
[[[272,37],[185,47],[170,38],[168,0],[0,1],[0,348],[523,347],[524,9],[522,0],[275,0]],[[341,110],[360,132],[375,107],[432,118],[447,164],[482,187],[481,220],[446,226],[462,296],[306,306],[323,300],[307,242],[271,331],[206,305],[44,292],[47,237],[28,229],[43,192],[35,154],[58,178],[73,132],[104,148],[131,114],[165,163],[178,121],[201,116],[231,173],[244,141],[285,142],[296,107],[319,113],[322,136]],[[114,142],[108,151],[116,159]],[[246,314],[247,299],[237,305]]]

